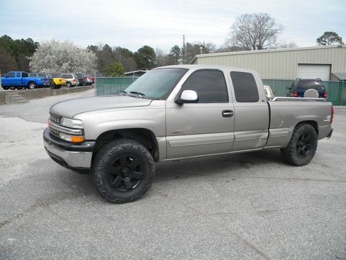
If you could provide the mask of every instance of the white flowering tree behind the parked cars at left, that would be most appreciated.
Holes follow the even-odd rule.
[[[73,42],[50,40],[42,42],[30,59],[30,70],[46,73],[91,73],[96,68],[95,53]]]

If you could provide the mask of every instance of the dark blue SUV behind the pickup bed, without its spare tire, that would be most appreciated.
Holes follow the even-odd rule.
[[[295,98],[303,98],[304,93],[307,91],[307,89],[315,89],[318,92],[319,98],[327,98],[325,85],[322,83],[322,80],[320,78],[297,78],[295,81],[293,81],[291,87],[287,87],[287,89],[289,89],[289,93],[287,93],[287,96],[293,96]]]

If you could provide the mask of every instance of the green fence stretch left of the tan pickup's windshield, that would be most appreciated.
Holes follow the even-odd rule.
[[[96,96],[115,95],[126,89],[138,77],[100,77],[95,78]]]

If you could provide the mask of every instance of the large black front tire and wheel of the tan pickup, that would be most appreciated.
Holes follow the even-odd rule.
[[[132,168],[134,166],[136,168]],[[104,145],[91,167],[95,188],[103,198],[113,203],[132,202],[143,197],[152,186],[154,175],[152,155],[147,148],[129,139],[118,139]]]

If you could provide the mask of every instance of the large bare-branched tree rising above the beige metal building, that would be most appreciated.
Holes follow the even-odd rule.
[[[244,14],[231,27],[227,44],[245,51],[275,48],[282,28],[266,13]]]

